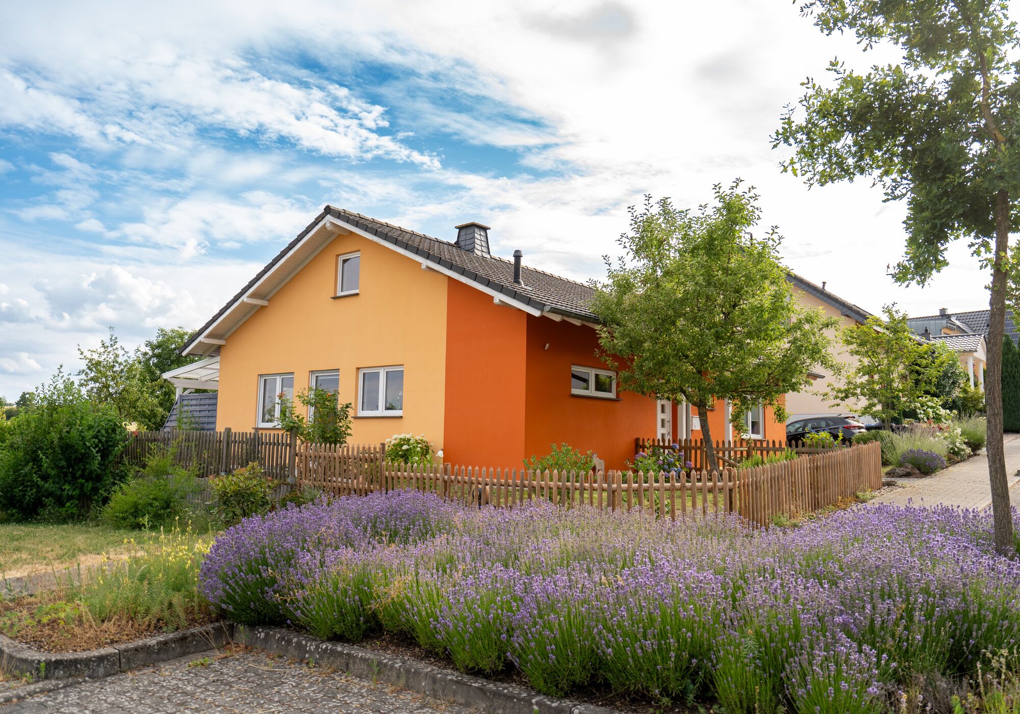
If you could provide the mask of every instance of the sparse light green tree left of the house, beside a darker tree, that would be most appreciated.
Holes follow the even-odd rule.
[[[78,372],[79,384],[93,404],[111,407],[124,422],[137,421],[153,409],[155,398],[139,362],[119,344],[113,327],[99,347],[80,346],[78,354],[85,363]]]

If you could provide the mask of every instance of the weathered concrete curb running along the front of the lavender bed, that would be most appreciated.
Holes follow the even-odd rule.
[[[235,642],[290,659],[336,667],[354,676],[384,681],[434,699],[490,714],[612,714],[614,710],[546,697],[517,684],[461,674],[424,662],[326,642],[279,627],[235,625]]]

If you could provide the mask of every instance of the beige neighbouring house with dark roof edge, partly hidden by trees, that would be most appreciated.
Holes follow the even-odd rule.
[[[852,369],[856,367],[858,360],[847,352],[839,341],[838,333],[843,327],[855,327],[864,324],[871,317],[871,313],[848,300],[844,300],[834,293],[830,293],[825,289],[824,283],[818,286],[793,272],[786,276],[786,279],[794,286],[794,292],[797,293],[798,300],[803,307],[820,307],[826,316],[835,317],[838,320],[835,329],[826,332],[826,335],[831,340],[829,349],[832,356],[847,365],[848,368]],[[819,373],[812,376],[814,377],[814,384],[810,388],[802,392],[792,392],[786,395],[786,413],[789,415],[787,421],[807,416],[857,415],[856,407],[860,405],[833,405],[832,402],[822,396],[835,380],[833,375]]]

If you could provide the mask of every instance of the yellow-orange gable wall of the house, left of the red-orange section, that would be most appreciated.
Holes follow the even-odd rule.
[[[360,292],[332,299],[337,256],[353,251],[361,252]],[[340,398],[356,407],[360,367],[402,364],[405,416],[355,417],[351,443],[412,432],[441,448],[447,280],[360,236],[338,237],[226,338],[216,428],[255,427],[260,374],[294,372],[297,392],[309,386],[310,372],[339,369]]]

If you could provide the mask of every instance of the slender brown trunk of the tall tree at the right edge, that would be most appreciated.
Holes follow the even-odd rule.
[[[991,513],[994,522],[996,550],[1004,556],[1016,556],[1013,519],[1010,512],[1009,480],[1003,450],[1003,337],[1006,332],[1006,269],[1009,251],[1010,197],[1006,191],[996,195],[996,253],[991,270],[991,297],[988,300],[988,362],[984,378],[987,409],[988,481],[991,484]]]

